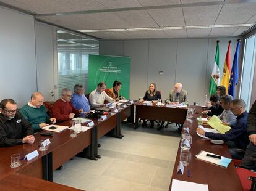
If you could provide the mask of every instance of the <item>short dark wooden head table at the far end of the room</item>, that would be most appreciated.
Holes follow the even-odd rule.
[[[167,107],[166,104],[163,106],[158,106],[156,103],[147,105],[140,101],[135,102],[134,105],[136,107],[134,129],[139,127],[139,118],[183,124],[187,116],[187,108],[184,107]]]

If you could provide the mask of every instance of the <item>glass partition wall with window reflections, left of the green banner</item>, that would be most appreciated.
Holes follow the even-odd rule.
[[[87,90],[88,55],[99,54],[99,41],[83,35],[57,30],[58,84],[61,90],[83,84]]]

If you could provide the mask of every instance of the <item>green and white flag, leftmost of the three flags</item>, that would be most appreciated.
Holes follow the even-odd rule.
[[[213,71],[211,72],[211,81],[209,93],[210,95],[216,94],[216,89],[220,86],[220,69],[219,69],[219,42],[217,41],[216,53],[215,53],[215,62],[213,65]]]

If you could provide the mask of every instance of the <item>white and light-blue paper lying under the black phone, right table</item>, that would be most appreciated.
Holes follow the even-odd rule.
[[[231,162],[231,158],[226,158],[224,156],[221,156],[221,159],[218,159],[218,158],[212,158],[212,157],[206,156],[207,154],[215,155],[214,153],[209,153],[204,150],[201,150],[197,155],[195,155],[195,157],[197,157],[200,160],[213,163],[215,165],[223,166],[225,168],[227,168],[229,163]]]

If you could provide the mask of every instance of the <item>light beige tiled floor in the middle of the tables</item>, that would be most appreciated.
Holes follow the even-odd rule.
[[[122,123],[122,139],[102,137],[98,161],[77,158],[54,171],[54,182],[82,190],[168,190],[180,136]]]

